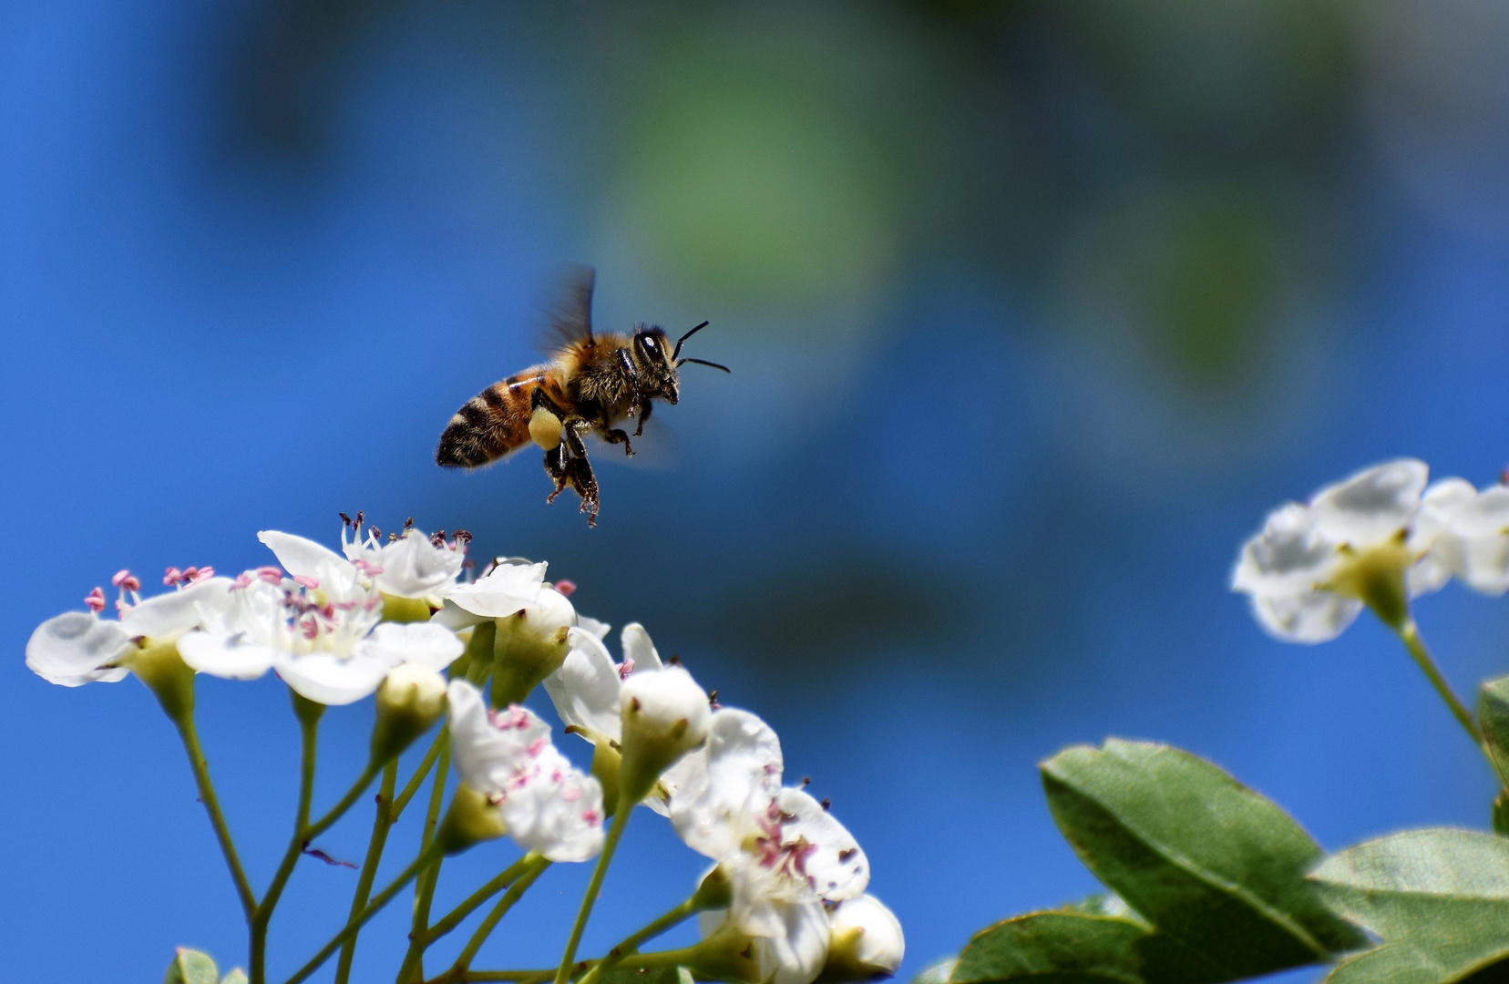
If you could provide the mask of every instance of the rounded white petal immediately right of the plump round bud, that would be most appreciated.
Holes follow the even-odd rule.
[[[780,794],[780,740],[748,711],[723,708],[712,715],[708,744],[687,759],[670,823],[699,854],[730,857]]]

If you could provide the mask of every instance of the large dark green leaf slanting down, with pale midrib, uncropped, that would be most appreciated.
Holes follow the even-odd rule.
[[[1323,857],[1289,813],[1188,752],[1111,738],[1043,764],[1080,860],[1160,937],[1240,979],[1357,949],[1305,871]]]

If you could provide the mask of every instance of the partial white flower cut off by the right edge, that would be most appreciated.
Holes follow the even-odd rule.
[[[1462,478],[1443,478],[1421,497],[1415,525],[1431,539],[1421,566],[1434,564],[1437,580],[1456,577],[1483,595],[1509,590],[1509,487],[1479,492]]]

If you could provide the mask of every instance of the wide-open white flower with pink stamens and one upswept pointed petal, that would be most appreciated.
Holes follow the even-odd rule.
[[[266,567],[238,577],[228,590],[228,626],[180,640],[195,670],[257,679],[276,669],[300,696],[343,705],[376,691],[401,663],[442,670],[462,653],[462,641],[441,625],[379,623],[382,595],[338,554],[287,533],[258,536],[293,577]]]

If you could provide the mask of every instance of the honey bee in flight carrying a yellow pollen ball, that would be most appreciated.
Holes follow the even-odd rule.
[[[496,382],[468,400],[445,426],[435,448],[435,463],[444,468],[481,468],[534,444],[545,451],[545,474],[555,490],[581,497],[587,525],[598,525],[598,478],[587,462],[582,436],[596,433],[608,444],[622,444],[634,454],[629,435],[616,424],[634,418],[634,435],[644,433],[655,400],[676,404],[681,398],[678,370],[687,362],[729,367],[682,358],[682,344],[708,326],[696,326],[675,343],[659,326],[635,324],[632,334],[592,331],[592,267],[573,267],[566,278],[561,302],[551,312],[557,344],[551,361]]]

